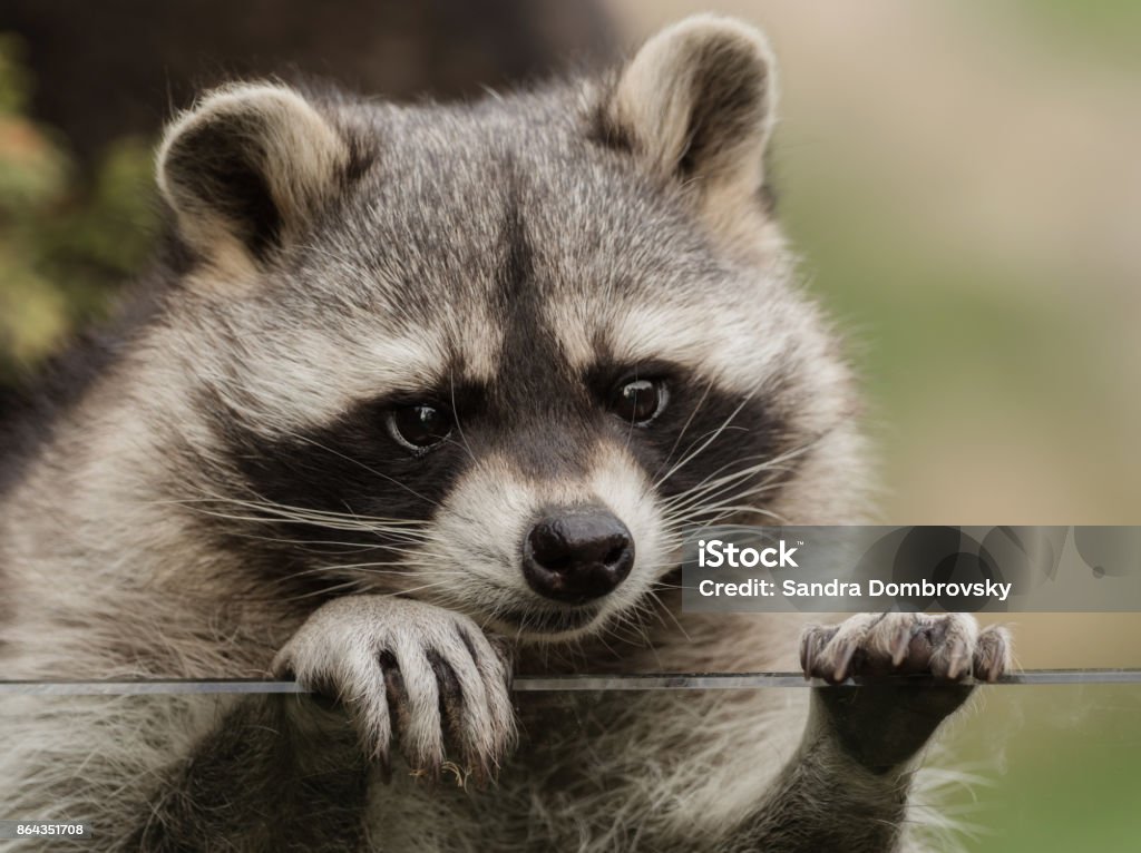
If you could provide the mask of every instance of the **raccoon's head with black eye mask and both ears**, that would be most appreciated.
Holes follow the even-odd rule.
[[[770,219],[775,91],[763,39],[701,17],[470,106],[207,96],[159,166],[196,258],[149,348],[172,493],[283,590],[543,640],[645,610],[687,526],[844,518],[860,454]]]

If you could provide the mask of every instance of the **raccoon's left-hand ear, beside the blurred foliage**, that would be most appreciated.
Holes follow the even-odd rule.
[[[243,83],[210,92],[167,129],[157,180],[192,246],[259,261],[331,197],[350,161],[299,92]]]

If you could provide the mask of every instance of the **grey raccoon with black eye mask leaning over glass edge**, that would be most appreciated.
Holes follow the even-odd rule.
[[[687,528],[869,512],[767,189],[776,98],[764,38],[703,16],[464,105],[253,82],[179,116],[169,250],[9,473],[3,673],[313,696],[9,697],[5,811],[104,850],[907,844],[917,757],[1006,634],[680,608]],[[946,683],[510,689],[798,655]]]

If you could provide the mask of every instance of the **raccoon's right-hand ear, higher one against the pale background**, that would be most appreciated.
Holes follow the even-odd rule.
[[[642,46],[610,91],[599,131],[707,204],[755,204],[776,99],[766,38],[738,21],[697,15]]]

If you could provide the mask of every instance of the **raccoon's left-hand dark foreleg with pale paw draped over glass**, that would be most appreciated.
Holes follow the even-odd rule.
[[[274,669],[337,701],[238,705],[171,775],[132,848],[354,850],[372,767],[389,772],[394,742],[418,775],[438,777],[446,749],[448,767],[479,781],[515,738],[503,649],[429,604],[331,601]]]

